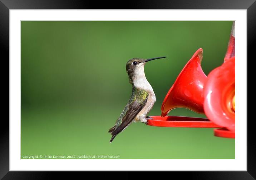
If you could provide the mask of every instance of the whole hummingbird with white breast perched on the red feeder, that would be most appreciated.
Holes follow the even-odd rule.
[[[110,143],[120,132],[128,127],[132,122],[141,121],[147,124],[151,117],[147,116],[156,102],[152,86],[146,79],[144,65],[146,62],[164,57],[155,57],[151,59],[133,58],[126,63],[126,72],[129,82],[132,84],[132,95],[124,107],[115,125],[108,132],[112,135]]]

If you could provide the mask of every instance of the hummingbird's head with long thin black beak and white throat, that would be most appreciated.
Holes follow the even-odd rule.
[[[164,56],[164,57],[155,57],[155,58],[151,58],[151,59],[141,59],[141,58],[130,59],[126,63],[126,72],[129,76],[130,83],[132,84],[134,79],[145,76],[145,74],[144,74],[144,65],[146,64],[146,62],[154,60],[154,59],[165,58],[165,57],[166,56]]]

